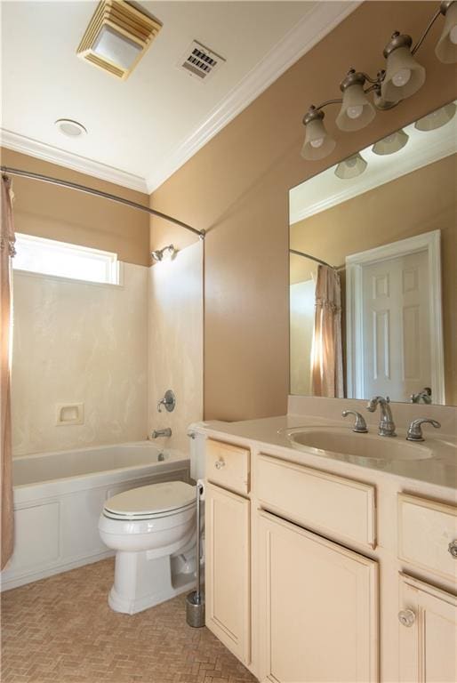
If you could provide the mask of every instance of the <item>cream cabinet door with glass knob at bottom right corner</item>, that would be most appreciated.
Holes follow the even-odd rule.
[[[457,598],[400,575],[398,622],[401,683],[455,683]]]

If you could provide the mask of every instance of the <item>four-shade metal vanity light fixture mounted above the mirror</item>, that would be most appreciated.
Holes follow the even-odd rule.
[[[341,104],[336,125],[341,131],[358,131],[373,121],[376,109],[385,111],[396,107],[399,102],[421,88],[425,82],[425,68],[414,59],[414,55],[440,15],[445,17],[445,26],[437,42],[437,58],[445,63],[457,61],[457,0],[442,0],[414,46],[411,36],[400,34],[398,31],[392,35],[383,52],[386,59],[385,68],[381,68],[375,78],[351,68],[340,84],[342,98],[326,100],[317,107],[309,107],[303,117],[306,130],[305,142],[301,149],[303,158],[323,159],[335,149],[336,142],[325,130],[325,107]],[[372,92],[373,103],[368,98]]]

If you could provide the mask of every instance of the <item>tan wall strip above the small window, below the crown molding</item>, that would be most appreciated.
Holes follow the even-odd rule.
[[[11,149],[1,149],[0,153],[4,165],[88,185],[148,205],[148,196],[141,192],[48,164]],[[116,252],[121,261],[148,266],[147,213],[28,178],[14,177],[13,189],[14,220],[18,232]]]

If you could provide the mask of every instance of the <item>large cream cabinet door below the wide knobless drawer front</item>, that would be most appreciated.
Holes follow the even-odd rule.
[[[259,513],[261,681],[378,680],[378,566]]]

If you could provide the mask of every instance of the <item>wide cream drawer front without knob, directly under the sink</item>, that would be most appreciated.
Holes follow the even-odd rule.
[[[257,495],[269,510],[322,534],[374,548],[374,486],[261,454]]]

